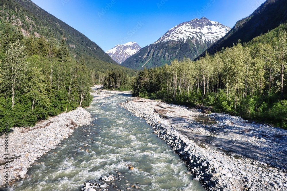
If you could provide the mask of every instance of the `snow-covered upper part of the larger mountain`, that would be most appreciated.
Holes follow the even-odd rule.
[[[201,19],[195,18],[168,30],[166,34],[154,44],[169,40],[181,41],[187,39],[190,39],[193,42],[200,42],[201,44],[213,44],[224,37],[230,29],[230,27],[224,26],[219,22],[210,21],[205,17],[202,17]]]

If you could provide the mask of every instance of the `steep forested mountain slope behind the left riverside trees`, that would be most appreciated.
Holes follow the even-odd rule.
[[[44,11],[30,0],[2,0],[0,8],[1,31],[3,31],[4,22],[9,21],[9,23],[19,26],[27,38],[37,39],[43,36],[49,40],[53,37],[55,44],[59,46],[62,37],[65,36],[71,56],[76,60],[84,57],[88,68],[100,72],[120,69],[130,75],[135,74],[133,70],[119,66],[96,43],[82,33]]]

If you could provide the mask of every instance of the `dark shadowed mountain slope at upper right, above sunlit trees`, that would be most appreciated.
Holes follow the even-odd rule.
[[[210,54],[231,47],[238,40],[242,43],[267,33],[284,23],[287,19],[287,3],[285,0],[267,0],[249,17],[239,20],[235,26],[218,42],[208,48]]]

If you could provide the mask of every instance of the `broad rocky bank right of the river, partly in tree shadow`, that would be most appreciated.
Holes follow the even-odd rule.
[[[197,110],[149,100],[121,107],[144,118],[206,190],[287,190],[287,131],[218,113],[203,125]]]

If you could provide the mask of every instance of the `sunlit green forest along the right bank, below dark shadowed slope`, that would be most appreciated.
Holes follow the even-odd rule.
[[[287,25],[197,61],[140,71],[133,85],[138,97],[184,105],[212,106],[287,128]]]

